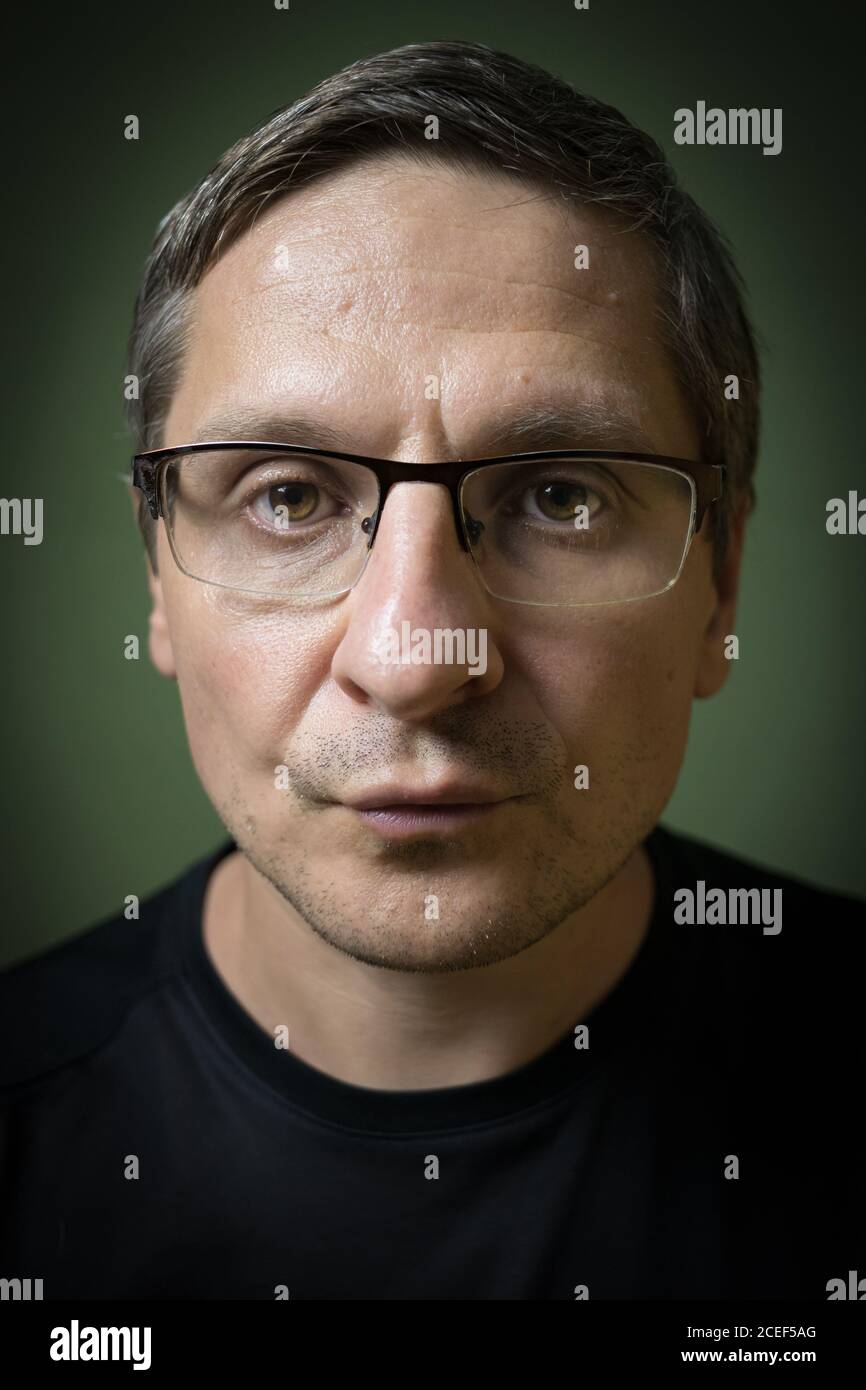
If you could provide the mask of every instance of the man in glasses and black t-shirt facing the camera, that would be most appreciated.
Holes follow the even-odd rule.
[[[160,225],[129,378],[150,656],[231,838],[6,973],[3,1273],[866,1269],[859,905],[657,824],[730,670],[759,385],[659,147],[475,44],[357,63]]]

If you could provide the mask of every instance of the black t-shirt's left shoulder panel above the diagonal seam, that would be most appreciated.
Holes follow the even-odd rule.
[[[0,1094],[97,1051],[136,1004],[179,973],[182,923],[218,855],[122,913],[0,970]]]

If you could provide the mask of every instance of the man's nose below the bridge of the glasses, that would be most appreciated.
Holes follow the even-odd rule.
[[[502,680],[489,595],[441,484],[391,488],[367,569],[345,603],[331,673],[360,703],[423,723]]]

